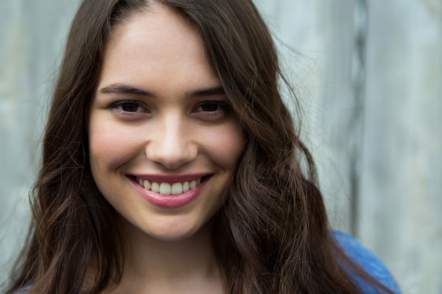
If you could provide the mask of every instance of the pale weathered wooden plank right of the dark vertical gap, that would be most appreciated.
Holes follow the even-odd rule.
[[[406,293],[442,293],[442,2],[368,3],[359,235]]]

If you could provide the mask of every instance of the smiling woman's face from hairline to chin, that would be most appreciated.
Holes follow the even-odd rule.
[[[157,5],[114,27],[89,144],[92,176],[124,226],[181,240],[220,208],[244,138],[200,35],[177,13]]]

